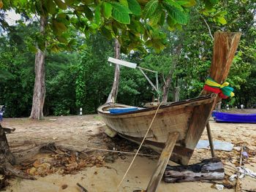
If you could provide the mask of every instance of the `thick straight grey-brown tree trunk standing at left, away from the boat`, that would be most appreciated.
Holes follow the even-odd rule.
[[[40,18],[40,32],[45,34],[45,26],[47,19],[43,16]],[[45,103],[45,50],[39,50],[37,48],[37,54],[35,58],[35,80],[34,80],[34,95],[33,104],[30,118],[42,119],[42,109]]]

